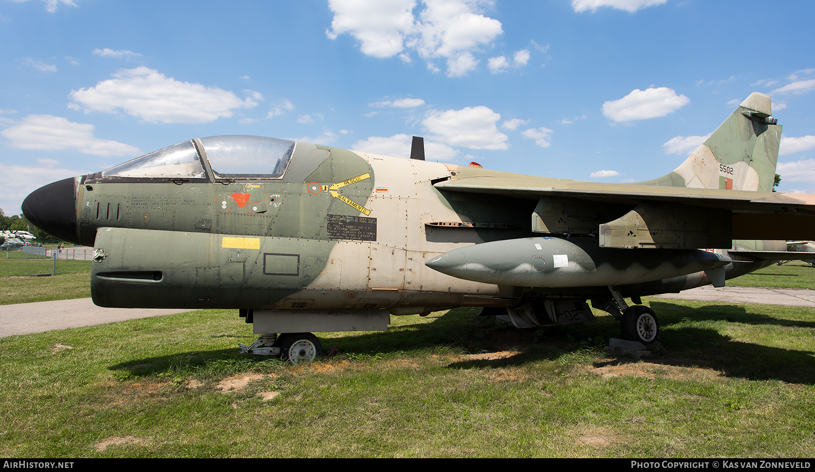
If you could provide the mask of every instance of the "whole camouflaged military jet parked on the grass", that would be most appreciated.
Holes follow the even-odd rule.
[[[23,212],[95,247],[97,305],[236,308],[256,354],[310,360],[311,332],[461,306],[576,323],[593,320],[588,302],[649,344],[642,296],[725,285],[815,234],[815,196],[771,192],[771,115],[754,93],[676,170],[632,184],[425,161],[421,138],[404,159],[212,136],[46,185]]]

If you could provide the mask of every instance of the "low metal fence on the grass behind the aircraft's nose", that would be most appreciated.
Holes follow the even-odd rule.
[[[90,271],[93,248],[7,247],[0,252],[0,277],[59,275]]]

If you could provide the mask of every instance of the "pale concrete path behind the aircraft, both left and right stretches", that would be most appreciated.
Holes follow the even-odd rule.
[[[656,295],[657,298],[680,298],[705,302],[760,303],[815,307],[815,290],[766,289],[763,287],[712,286],[685,290],[681,293]],[[135,320],[148,316],[171,315],[192,310],[156,310],[143,308],[101,308],[90,298],[55,302],[0,305],[0,337],[12,334],[42,333],[51,329],[77,328],[113,321]]]

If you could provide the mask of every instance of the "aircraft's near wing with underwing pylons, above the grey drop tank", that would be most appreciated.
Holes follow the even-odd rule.
[[[491,175],[489,171],[479,175],[469,169],[456,174],[457,179],[434,183],[434,187],[539,200],[533,231],[586,234],[593,225],[601,247],[726,249],[731,240],[809,239],[815,235],[812,194],[535,179],[520,174]],[[628,208],[628,213],[619,216],[619,210],[616,215],[608,211],[604,220],[603,212],[597,210],[603,205]],[[582,218],[575,223],[577,218],[564,216],[572,214],[598,214],[600,219],[589,223]],[[540,222],[538,229],[535,221]]]

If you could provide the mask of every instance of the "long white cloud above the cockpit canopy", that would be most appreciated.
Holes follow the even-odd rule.
[[[112,78],[96,86],[72,90],[71,108],[86,112],[116,112],[146,121],[164,123],[208,123],[219,117],[231,117],[236,108],[258,104],[248,97],[241,100],[231,91],[199,83],[180,82],[155,69],[140,66],[121,69]]]

